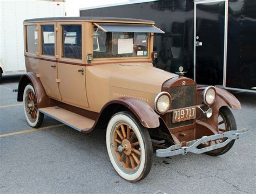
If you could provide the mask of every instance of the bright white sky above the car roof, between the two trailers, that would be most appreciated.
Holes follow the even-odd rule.
[[[80,8],[129,2],[129,0],[66,0],[66,16],[79,16]]]

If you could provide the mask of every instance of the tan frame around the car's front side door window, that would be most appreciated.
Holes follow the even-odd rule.
[[[75,58],[67,58],[63,57],[63,39],[62,39],[62,26],[63,25],[81,25],[81,34],[82,34],[82,59]],[[58,60],[62,61],[70,61],[71,63],[85,64],[85,22],[57,22],[57,47],[58,51]]]

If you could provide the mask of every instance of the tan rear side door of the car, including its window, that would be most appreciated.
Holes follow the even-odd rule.
[[[38,77],[45,92],[53,99],[60,100],[57,79],[56,22],[39,23],[39,65]]]

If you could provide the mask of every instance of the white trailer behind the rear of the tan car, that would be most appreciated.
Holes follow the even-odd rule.
[[[25,73],[23,21],[31,18],[64,17],[61,1],[0,1],[0,81],[3,75]]]

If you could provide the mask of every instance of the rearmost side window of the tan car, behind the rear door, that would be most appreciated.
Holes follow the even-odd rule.
[[[37,25],[26,26],[26,52],[36,53],[38,50]]]

